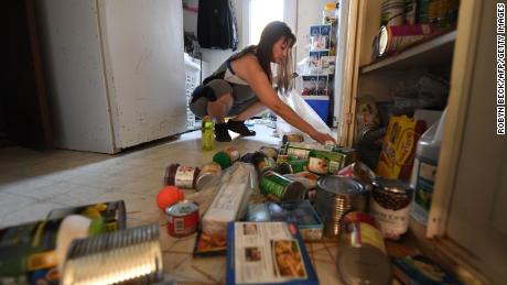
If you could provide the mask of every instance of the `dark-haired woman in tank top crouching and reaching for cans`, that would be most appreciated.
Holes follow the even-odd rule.
[[[333,141],[306,123],[278,97],[272,87],[271,63],[278,64],[274,77],[278,88],[290,90],[292,76],[291,51],[295,36],[283,22],[269,23],[258,45],[250,45],[233,55],[198,86],[190,105],[195,116],[212,116],[216,120],[215,139],[229,142],[228,130],[241,135],[255,135],[245,125],[245,120],[266,108],[283,118],[288,123],[309,134],[320,143]],[[231,117],[225,123],[224,118]]]

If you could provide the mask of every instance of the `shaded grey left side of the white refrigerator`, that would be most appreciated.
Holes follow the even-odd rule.
[[[56,147],[112,153],[95,0],[36,1]]]

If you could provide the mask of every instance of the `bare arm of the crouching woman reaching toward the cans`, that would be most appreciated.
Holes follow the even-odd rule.
[[[311,124],[301,119],[301,117],[299,117],[298,113],[295,113],[289,106],[280,100],[268,80],[268,76],[265,74],[259,65],[259,62],[254,55],[247,54],[241,56],[241,58],[234,61],[231,64],[235,73],[248,83],[259,100],[273,112],[283,118],[283,120],[302,132],[308,133],[317,142],[335,142],[331,135],[316,131]]]

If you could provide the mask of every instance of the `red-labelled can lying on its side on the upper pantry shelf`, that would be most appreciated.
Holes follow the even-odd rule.
[[[378,56],[399,52],[433,32],[431,24],[382,25],[377,36]]]

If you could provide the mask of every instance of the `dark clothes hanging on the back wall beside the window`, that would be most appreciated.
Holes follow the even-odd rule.
[[[197,40],[204,48],[238,48],[237,23],[229,0],[198,1]]]

